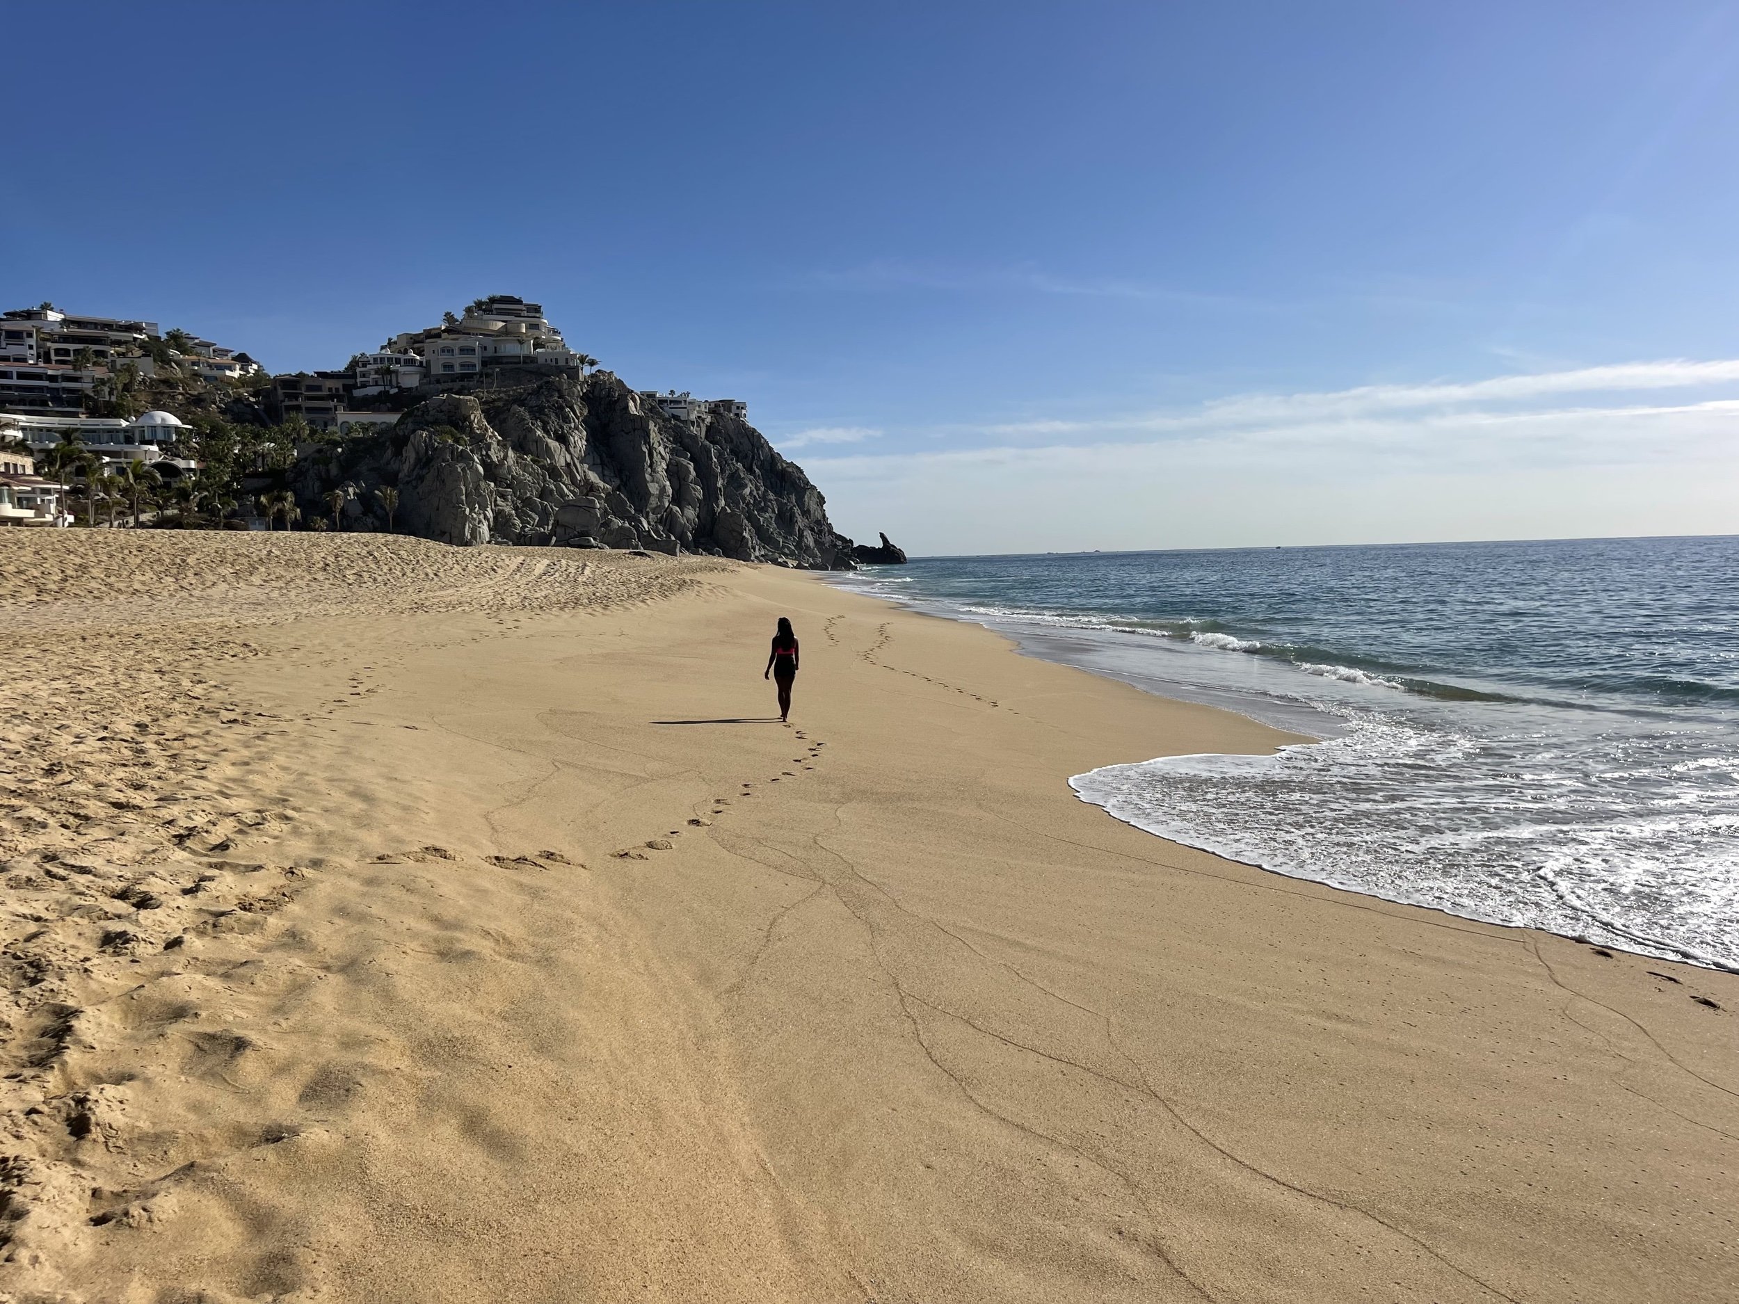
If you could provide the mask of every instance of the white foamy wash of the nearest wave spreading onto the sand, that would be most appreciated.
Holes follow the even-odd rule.
[[[1574,749],[1518,784],[1489,739],[1376,713],[1348,723],[1268,756],[1162,756],[1069,786],[1127,824],[1290,878],[1739,970],[1739,815],[1718,795],[1664,803],[1652,782],[1603,782]]]

